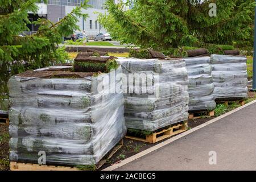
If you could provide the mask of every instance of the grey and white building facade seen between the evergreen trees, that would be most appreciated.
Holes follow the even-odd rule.
[[[36,20],[40,18],[47,18],[51,20],[51,22],[56,23],[61,18],[63,18],[68,13],[71,13],[72,9],[75,6],[79,6],[81,2],[84,0],[49,0],[48,4],[38,3],[39,10],[38,14],[28,14],[30,20]],[[98,23],[98,13],[107,12],[104,9],[104,3],[106,0],[90,0],[88,2],[92,7],[87,10],[82,10],[82,13],[86,13],[89,15],[87,19],[79,18],[79,22],[77,23],[80,27],[80,32],[85,30],[86,34],[88,34],[89,38],[93,39],[94,36],[99,34],[100,32],[105,33],[105,29]],[[38,27],[34,25],[28,25],[30,31],[37,31]],[[79,32],[79,30],[77,30]]]

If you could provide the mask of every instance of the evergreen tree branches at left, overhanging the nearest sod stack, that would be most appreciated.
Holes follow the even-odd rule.
[[[63,36],[79,30],[78,18],[81,9],[88,7],[85,0],[81,6],[75,7],[71,13],[57,23],[43,18],[30,22],[28,12],[36,13],[38,0],[0,0],[0,98],[8,94],[7,81],[10,76],[26,71],[62,63],[67,59],[64,48],[56,46]],[[36,34],[19,36],[22,31],[29,31],[27,24],[39,25]]]

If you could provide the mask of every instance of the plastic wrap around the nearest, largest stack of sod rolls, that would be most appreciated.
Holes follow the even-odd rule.
[[[115,73],[121,73],[119,67]],[[10,91],[10,160],[96,164],[126,134],[123,94],[115,84],[98,91],[111,73],[84,78],[13,76]],[[106,79],[105,79],[106,78]]]

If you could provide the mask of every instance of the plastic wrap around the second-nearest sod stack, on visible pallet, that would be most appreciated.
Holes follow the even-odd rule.
[[[188,73],[183,59],[119,58],[117,61],[127,78],[130,75],[151,78],[141,80],[141,90],[137,93],[131,92],[136,90],[131,87],[139,78],[123,84],[127,128],[155,131],[188,119]]]

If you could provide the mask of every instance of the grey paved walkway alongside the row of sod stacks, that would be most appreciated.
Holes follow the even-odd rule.
[[[117,170],[256,170],[256,103]]]

